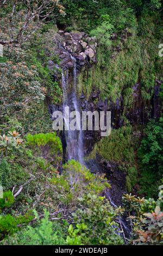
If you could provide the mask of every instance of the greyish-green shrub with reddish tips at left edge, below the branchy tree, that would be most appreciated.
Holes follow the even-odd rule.
[[[17,49],[15,51],[22,51]],[[35,99],[43,100],[45,95],[39,83],[39,74],[35,66],[27,66],[26,62],[0,63],[0,103],[2,113],[26,107],[26,103]],[[3,75],[2,75],[3,74]],[[8,93],[6,93],[8,92]],[[5,95],[5,97],[4,97]]]

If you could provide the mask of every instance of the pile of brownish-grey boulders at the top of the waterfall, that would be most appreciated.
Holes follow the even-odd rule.
[[[95,37],[87,36],[84,32],[68,33],[59,30],[59,39],[56,44],[55,54],[60,58],[60,68],[62,70],[71,69],[74,65],[75,58],[78,68],[87,65],[87,62],[96,63],[96,47]],[[52,69],[52,65],[49,65]]]

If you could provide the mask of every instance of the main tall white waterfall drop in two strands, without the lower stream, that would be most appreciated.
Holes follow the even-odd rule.
[[[63,93],[63,112],[64,112],[64,122],[65,126],[69,127],[67,124],[67,119],[65,118],[65,107],[70,107],[70,110],[78,111],[80,113],[80,105],[77,99],[77,66],[76,59],[71,56],[73,60],[73,88],[70,93],[70,81],[68,79],[68,70],[66,71],[66,76],[62,72],[62,93]],[[71,131],[65,130],[65,139],[67,144],[67,159],[74,159],[84,164],[84,150],[83,150],[83,131],[82,125],[77,118],[77,126],[80,130]]]

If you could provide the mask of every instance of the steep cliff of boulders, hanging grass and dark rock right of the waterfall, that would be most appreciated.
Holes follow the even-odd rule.
[[[151,23],[150,27],[147,26],[148,22]],[[88,166],[94,171],[101,169],[108,173],[112,186],[116,187],[112,190],[113,193],[121,191],[118,193],[118,200],[126,189],[126,182],[130,190],[137,175],[134,149],[131,145],[133,131],[130,128],[128,132],[125,130],[126,120],[133,127],[145,125],[150,118],[158,119],[162,112],[159,97],[162,59],[158,57],[159,38],[154,24],[153,18],[148,17],[141,29],[137,25],[133,31],[125,29],[121,36],[112,35],[109,48],[99,45],[95,38],[83,32],[58,32],[59,41],[55,54],[61,62],[57,68],[61,68],[65,75],[68,72],[68,94],[71,95],[73,90],[73,57],[77,63],[76,89],[81,111],[111,111],[111,125],[118,129],[117,132],[112,132],[111,139],[101,139],[100,131],[83,133],[84,155],[89,155]],[[53,65],[53,62],[49,63],[49,68],[53,68]],[[62,86],[58,73],[54,74],[54,78],[57,81],[60,79]],[[51,112],[56,107],[60,110],[62,108],[51,106]],[[139,136],[138,133],[139,131],[136,136]],[[66,148],[64,133],[61,137]],[[117,148],[114,139],[119,143]],[[110,148],[111,145],[113,149]],[[126,149],[127,160],[123,153],[120,154],[120,151],[125,152]],[[115,157],[111,157],[112,155]],[[96,160],[96,164],[91,159],[94,163]],[[119,171],[121,168],[123,173]]]

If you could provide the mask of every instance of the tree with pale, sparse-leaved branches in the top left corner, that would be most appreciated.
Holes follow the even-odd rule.
[[[7,12],[0,23],[2,45],[27,41],[42,23],[55,20],[59,14],[65,15],[59,0],[3,0],[0,7]]]

